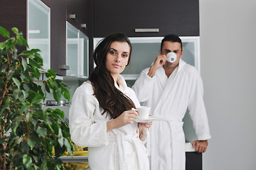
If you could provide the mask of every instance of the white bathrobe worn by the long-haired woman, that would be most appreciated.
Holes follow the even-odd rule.
[[[117,89],[132,99],[135,106],[139,101],[132,89],[127,87],[122,76],[117,80]],[[137,123],[107,132],[106,115],[102,115],[97,98],[93,96],[92,84],[85,81],[73,95],[69,112],[70,135],[73,142],[88,148],[89,165],[92,170],[149,170],[149,160],[144,142],[147,129],[139,139]]]

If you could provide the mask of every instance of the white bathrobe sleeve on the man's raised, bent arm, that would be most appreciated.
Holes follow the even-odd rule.
[[[149,77],[148,72],[149,68],[144,69],[132,86],[139,102],[149,101],[153,93],[155,77]]]

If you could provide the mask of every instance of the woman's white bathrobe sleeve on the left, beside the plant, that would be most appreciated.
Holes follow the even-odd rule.
[[[108,141],[107,119],[100,117],[99,103],[92,93],[90,83],[82,84],[76,89],[70,107],[71,140],[80,147],[99,147]]]

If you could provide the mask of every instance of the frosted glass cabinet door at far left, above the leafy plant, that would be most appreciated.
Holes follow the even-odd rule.
[[[39,0],[28,0],[28,46],[41,50],[43,69],[50,69],[50,8]]]

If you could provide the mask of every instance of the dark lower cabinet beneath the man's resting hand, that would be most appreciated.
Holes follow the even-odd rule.
[[[202,170],[202,153],[186,152],[186,170]]]

